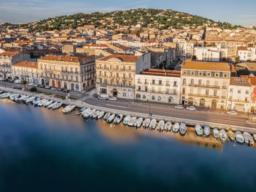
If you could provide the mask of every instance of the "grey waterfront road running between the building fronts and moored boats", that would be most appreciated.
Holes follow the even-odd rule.
[[[11,82],[0,82],[0,86],[2,88],[6,87],[23,87],[23,85],[14,84]],[[30,89],[28,85],[26,85],[27,89]],[[56,90],[46,90],[44,88],[39,88],[39,91],[49,92],[55,95],[67,95],[66,92],[58,92]],[[248,117],[246,114],[238,115],[238,116],[230,116],[226,113],[222,114],[221,112],[208,112],[207,110],[198,110],[196,112],[191,112],[187,110],[176,110],[174,107],[169,107],[168,105],[150,105],[149,103],[139,103],[139,102],[129,102],[128,101],[117,101],[111,102],[109,100],[98,100],[95,97],[87,97],[87,93],[81,92],[70,92],[70,97],[74,97],[78,100],[81,98],[83,102],[86,102],[89,105],[95,105],[97,107],[107,107],[113,110],[123,110],[127,112],[139,112],[148,114],[152,113],[152,116],[159,115],[164,117],[174,117],[174,118],[181,118],[181,119],[188,119],[188,120],[197,120],[197,121],[205,121],[205,122],[213,122],[213,123],[220,123],[220,124],[230,124],[235,126],[241,127],[253,127],[256,128],[255,124],[249,124],[246,121]],[[150,108],[150,112],[149,112]]]

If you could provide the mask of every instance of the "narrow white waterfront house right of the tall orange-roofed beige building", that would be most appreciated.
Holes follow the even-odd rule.
[[[230,78],[227,110],[250,112],[252,85],[247,78]]]

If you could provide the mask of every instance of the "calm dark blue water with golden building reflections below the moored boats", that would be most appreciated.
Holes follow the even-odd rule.
[[[60,111],[1,100],[0,191],[256,189],[255,147]]]

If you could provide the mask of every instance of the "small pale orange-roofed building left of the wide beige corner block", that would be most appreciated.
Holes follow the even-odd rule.
[[[28,83],[39,83],[38,63],[31,61],[21,61],[11,65],[12,77],[15,80],[26,80]]]

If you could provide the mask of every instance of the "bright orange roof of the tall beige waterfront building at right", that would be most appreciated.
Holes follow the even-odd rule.
[[[181,65],[181,69],[230,71],[230,67],[228,63],[192,61],[192,60],[185,61]]]

